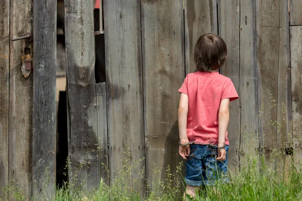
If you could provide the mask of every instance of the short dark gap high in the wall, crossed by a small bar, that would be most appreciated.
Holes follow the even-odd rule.
[[[100,31],[100,9],[94,10],[94,31]],[[105,62],[106,57],[105,57],[104,34],[95,35],[95,55],[96,55],[96,62],[95,62],[96,83],[105,82],[106,81],[106,62]]]

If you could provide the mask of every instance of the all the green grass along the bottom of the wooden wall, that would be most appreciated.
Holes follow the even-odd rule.
[[[183,176],[180,174],[181,166],[173,173],[168,168],[163,181],[159,177],[153,182],[147,180],[147,196],[141,196],[137,186],[141,185],[140,181],[144,181],[144,172],[138,174],[138,178],[132,179],[132,172],[139,162],[131,164],[130,160],[126,159],[110,186],[104,180],[101,180],[95,189],[88,189],[85,185],[77,188],[73,184],[65,183],[57,189],[53,200],[182,200],[184,185]],[[216,183],[218,193],[213,187],[202,188],[195,200],[302,200],[301,168],[296,167],[294,163],[290,166],[285,178],[284,175],[266,167],[264,160],[259,162],[257,158],[246,157],[241,171],[236,175],[230,173],[229,184]],[[161,175],[159,170],[154,171],[155,175]],[[8,186],[6,190],[11,191],[12,200],[26,200],[16,186]],[[47,200],[47,197],[48,195],[45,195],[43,200]]]

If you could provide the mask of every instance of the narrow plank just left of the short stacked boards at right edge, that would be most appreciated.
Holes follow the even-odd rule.
[[[285,149],[292,145],[292,108],[290,82],[290,45],[288,1],[280,1],[279,17],[279,72],[278,72],[278,108],[276,170],[283,172]]]

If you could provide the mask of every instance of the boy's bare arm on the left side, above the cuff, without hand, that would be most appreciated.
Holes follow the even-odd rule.
[[[188,110],[189,110],[188,95],[185,93],[181,93],[179,108],[178,108],[178,128],[179,128],[179,139],[181,143],[189,142],[187,136]]]

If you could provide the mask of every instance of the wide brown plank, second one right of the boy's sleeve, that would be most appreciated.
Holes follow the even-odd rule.
[[[278,65],[279,65],[279,2],[256,0],[257,73],[259,136],[261,150],[269,167],[274,168],[276,148]],[[274,155],[274,154],[273,154]]]

